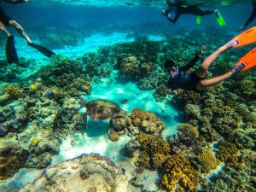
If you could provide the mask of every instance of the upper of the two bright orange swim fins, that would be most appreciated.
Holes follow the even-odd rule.
[[[247,29],[245,32],[241,32],[236,36],[236,38],[233,38],[232,40],[236,40],[238,42],[238,44],[233,48],[240,48],[248,44],[253,44],[256,42],[256,26]]]

